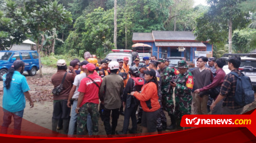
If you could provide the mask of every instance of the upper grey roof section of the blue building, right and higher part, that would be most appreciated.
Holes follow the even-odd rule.
[[[191,31],[152,31],[155,40],[196,40]]]

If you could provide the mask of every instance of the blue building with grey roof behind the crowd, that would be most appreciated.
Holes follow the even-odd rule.
[[[133,43],[152,46],[151,54],[157,58],[182,56],[193,62],[199,51],[206,51],[212,57],[213,46],[196,40],[191,31],[152,31],[151,33],[133,33]],[[207,52],[208,51],[208,52]],[[211,54],[211,55],[209,55]]]

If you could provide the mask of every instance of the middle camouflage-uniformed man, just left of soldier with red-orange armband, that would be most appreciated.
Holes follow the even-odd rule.
[[[178,74],[178,71],[175,68],[167,67],[163,58],[159,58],[158,62],[158,72],[162,80],[162,103],[164,109],[168,112],[168,115],[170,116],[170,121],[172,121],[172,125],[168,126],[166,129],[170,130],[176,127],[176,118],[173,114],[173,87],[170,86],[170,81],[175,77],[175,73]]]

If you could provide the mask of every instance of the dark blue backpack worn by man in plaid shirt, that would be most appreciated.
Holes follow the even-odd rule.
[[[234,93],[234,101],[240,106],[252,103],[254,101],[254,90],[251,85],[250,77],[244,76],[243,73],[239,76],[233,71],[230,74],[238,78],[236,93]]]

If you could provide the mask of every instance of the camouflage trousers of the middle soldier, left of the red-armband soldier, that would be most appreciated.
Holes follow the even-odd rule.
[[[170,116],[171,114],[173,114],[173,110],[174,110],[173,92],[170,92],[170,94],[163,94],[162,103],[163,103],[163,108],[168,112],[168,115]]]

